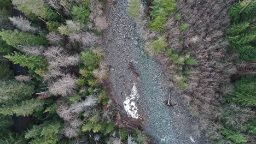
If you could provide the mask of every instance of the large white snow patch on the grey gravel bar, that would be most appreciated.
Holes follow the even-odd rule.
[[[126,97],[124,101],[124,109],[129,117],[141,119],[141,116],[138,115],[138,108],[135,105],[134,101],[136,98],[139,98],[139,95],[135,83],[133,83],[131,94],[129,95],[129,97]]]

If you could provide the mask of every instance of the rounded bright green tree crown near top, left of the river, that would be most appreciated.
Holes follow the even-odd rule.
[[[73,5],[71,14],[73,20],[86,23],[89,21],[90,10],[84,7],[83,5]]]

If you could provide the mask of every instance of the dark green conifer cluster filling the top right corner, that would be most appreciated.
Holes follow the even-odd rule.
[[[256,15],[254,8],[256,1],[251,1],[239,14],[247,2],[242,1],[232,5],[232,8],[230,8],[230,18],[234,23],[230,28],[226,29],[226,38],[229,40],[228,50],[239,53],[240,58],[243,60],[252,61],[256,59],[256,28],[253,23],[254,15]]]

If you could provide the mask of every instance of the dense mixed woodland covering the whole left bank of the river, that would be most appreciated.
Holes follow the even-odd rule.
[[[144,143],[115,127],[97,0],[0,1],[0,143]],[[22,74],[15,74],[15,68]],[[12,119],[28,118],[15,130]],[[21,127],[21,125],[18,125]]]

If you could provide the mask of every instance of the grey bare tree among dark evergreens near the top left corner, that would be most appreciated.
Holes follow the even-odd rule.
[[[21,31],[30,33],[38,32],[38,28],[32,27],[31,22],[22,16],[9,17],[9,20],[13,22],[13,25],[19,28]]]

